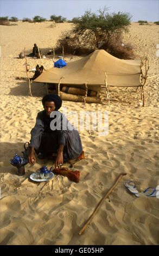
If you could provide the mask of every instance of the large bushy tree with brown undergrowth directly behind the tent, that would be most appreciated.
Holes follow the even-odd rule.
[[[74,18],[71,32],[63,33],[58,40],[56,51],[73,54],[88,54],[96,49],[104,49],[117,58],[133,58],[130,45],[122,46],[122,34],[128,32],[130,15],[118,12],[106,13],[106,8],[98,11],[99,15],[86,11],[79,18]]]

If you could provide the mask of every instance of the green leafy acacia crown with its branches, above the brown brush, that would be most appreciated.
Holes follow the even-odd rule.
[[[73,19],[74,28],[72,34],[79,36],[86,44],[94,43],[94,48],[101,43],[109,44],[111,37],[117,33],[127,32],[131,16],[128,13],[112,13],[98,10],[97,14],[91,10],[86,11],[81,17]]]

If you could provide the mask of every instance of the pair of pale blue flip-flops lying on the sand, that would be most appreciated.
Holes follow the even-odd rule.
[[[132,193],[135,194],[136,197],[156,197],[156,188],[155,187],[148,187],[144,192],[138,192],[136,189],[136,184],[134,181],[126,181],[124,186]]]

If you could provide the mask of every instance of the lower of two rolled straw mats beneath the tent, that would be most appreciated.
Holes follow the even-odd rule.
[[[63,93],[63,92],[60,92],[60,98],[61,100],[67,100],[67,101],[85,102],[85,96],[73,95],[73,94]],[[100,97],[87,96],[86,103],[101,103],[101,99]]]

